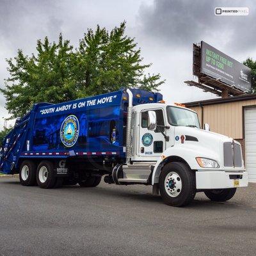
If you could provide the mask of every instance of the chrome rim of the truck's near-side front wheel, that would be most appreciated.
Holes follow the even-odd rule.
[[[169,196],[179,196],[182,189],[180,175],[177,172],[168,173],[164,180],[164,188]]]

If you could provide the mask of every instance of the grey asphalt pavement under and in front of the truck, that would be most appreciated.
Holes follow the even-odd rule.
[[[151,186],[24,187],[0,177],[0,255],[255,255],[256,185],[164,205]]]

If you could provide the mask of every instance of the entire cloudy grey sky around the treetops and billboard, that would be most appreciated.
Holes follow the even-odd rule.
[[[18,49],[35,52],[36,40],[79,38],[97,24],[108,30],[126,20],[127,35],[136,38],[150,74],[160,73],[161,93],[168,103],[213,99],[216,95],[189,87],[192,45],[204,40],[238,61],[256,60],[256,6],[239,0],[0,0],[0,87],[8,77],[6,58]],[[247,16],[216,16],[215,7],[248,7]],[[0,130],[8,112],[0,95]],[[8,121],[8,125],[13,124]]]

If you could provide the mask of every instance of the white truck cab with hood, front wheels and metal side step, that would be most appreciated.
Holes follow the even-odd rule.
[[[199,191],[226,201],[236,188],[248,186],[240,143],[200,129],[191,109],[165,103],[134,106],[130,136],[120,184],[150,182],[166,204],[186,205]]]

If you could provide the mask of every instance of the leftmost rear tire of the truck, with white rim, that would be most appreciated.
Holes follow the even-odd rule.
[[[33,161],[25,160],[20,164],[20,184],[23,186],[35,186],[36,164]]]

